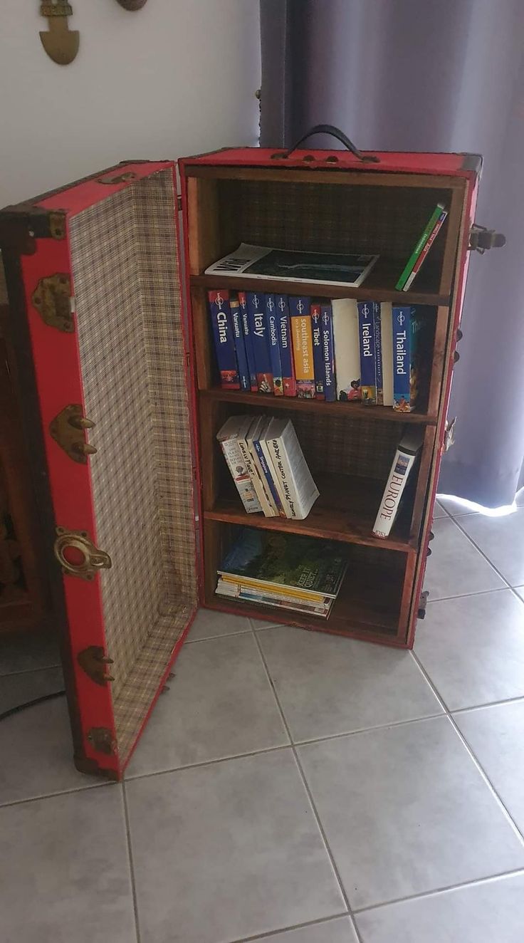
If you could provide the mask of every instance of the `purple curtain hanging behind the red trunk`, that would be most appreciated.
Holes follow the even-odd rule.
[[[507,245],[471,258],[439,490],[511,504],[524,485],[524,4],[261,0],[261,34],[262,146],[336,124],[364,150],[483,155],[477,222]]]

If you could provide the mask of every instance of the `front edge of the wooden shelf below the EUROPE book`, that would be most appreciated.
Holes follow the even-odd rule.
[[[341,543],[361,544],[365,547],[377,547],[380,550],[395,550],[401,554],[416,553],[417,548],[410,539],[395,540],[394,538],[373,537],[333,530],[325,524],[315,525],[303,521],[290,521],[288,518],[267,518],[263,514],[246,514],[245,511],[231,510],[221,507],[220,503],[212,510],[204,511],[205,521],[220,521],[221,523],[237,524],[240,527],[255,527],[259,530],[283,531],[289,534],[302,534],[304,537],[315,537],[320,540],[337,540]]]

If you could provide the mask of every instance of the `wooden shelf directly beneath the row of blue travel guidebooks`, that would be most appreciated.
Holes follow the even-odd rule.
[[[247,393],[238,389],[200,389],[199,396],[204,400],[214,400],[221,403],[237,403],[258,408],[286,409],[296,412],[321,413],[323,416],[336,416],[341,419],[346,415],[348,419],[377,420],[378,422],[400,422],[401,425],[425,424],[435,425],[436,416],[426,413],[395,412],[389,406],[365,405],[363,403],[326,403],[324,400],[303,400],[295,396],[273,396],[272,393]]]

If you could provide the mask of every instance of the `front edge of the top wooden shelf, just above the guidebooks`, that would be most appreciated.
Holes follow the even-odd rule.
[[[371,285],[351,286],[323,285],[321,282],[287,282],[265,278],[232,278],[227,275],[191,275],[191,288],[231,289],[247,291],[283,291],[287,294],[313,295],[320,298],[356,298],[357,301],[390,301],[402,305],[449,306],[450,295],[434,291],[396,291]]]

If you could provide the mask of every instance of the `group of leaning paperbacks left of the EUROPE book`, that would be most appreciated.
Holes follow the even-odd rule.
[[[319,497],[288,419],[231,416],[217,438],[248,514],[303,521]]]

